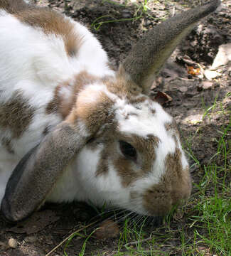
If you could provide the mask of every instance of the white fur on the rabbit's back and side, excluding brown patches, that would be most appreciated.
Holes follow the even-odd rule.
[[[76,33],[82,37],[82,46],[78,55],[70,58],[63,38],[45,35],[39,28],[21,23],[13,15],[0,10],[0,104],[9,101],[20,90],[28,104],[36,109],[26,133],[11,140],[15,154],[9,154],[1,145],[1,138],[11,137],[11,132],[0,127],[0,202],[6,181],[18,161],[41,141],[45,127],[53,127],[61,121],[57,114],[45,113],[55,87],[60,82],[71,81],[74,75],[85,69],[92,75],[114,75],[107,68],[107,54],[95,36],[80,23],[74,24]],[[62,93],[63,97],[70,95],[68,90]],[[87,136],[84,124],[80,126]]]

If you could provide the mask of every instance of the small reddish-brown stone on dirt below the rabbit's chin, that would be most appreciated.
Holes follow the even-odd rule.
[[[119,226],[113,220],[104,220],[99,229],[94,233],[95,238],[105,239],[105,238],[117,238],[119,235]]]

